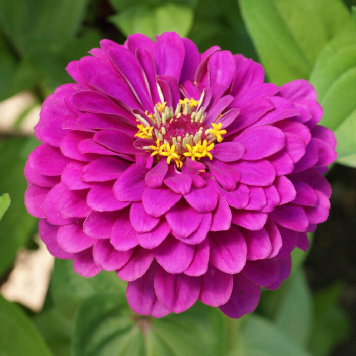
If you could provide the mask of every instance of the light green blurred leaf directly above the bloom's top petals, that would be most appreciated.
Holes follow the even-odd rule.
[[[165,31],[184,37],[193,23],[193,10],[184,5],[166,4],[156,8],[130,7],[110,18],[125,35],[142,33],[154,39]]]

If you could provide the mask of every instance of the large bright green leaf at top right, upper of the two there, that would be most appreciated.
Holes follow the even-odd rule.
[[[239,0],[243,19],[270,80],[309,77],[323,46],[352,26],[339,0]]]

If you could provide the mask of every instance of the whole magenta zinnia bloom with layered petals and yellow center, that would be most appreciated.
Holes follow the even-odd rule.
[[[82,276],[117,271],[139,314],[251,313],[329,214],[336,141],[315,90],[176,33],[100,45],[35,129],[25,202],[42,240]]]

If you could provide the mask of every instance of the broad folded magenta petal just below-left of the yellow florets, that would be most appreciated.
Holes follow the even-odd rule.
[[[139,201],[146,188],[144,176],[148,169],[138,165],[131,165],[126,169],[113,186],[116,199],[120,201]]]

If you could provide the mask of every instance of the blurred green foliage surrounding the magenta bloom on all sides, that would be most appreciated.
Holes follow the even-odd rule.
[[[339,300],[356,313],[356,174],[347,168],[356,167],[351,5],[352,0],[2,0],[0,101],[30,90],[42,102],[71,80],[66,64],[101,38],[122,43],[135,32],[154,38],[176,31],[201,52],[220,45],[260,61],[278,85],[310,80],[325,111],[321,124],[337,136],[339,165],[330,173],[331,217],[317,230],[311,256],[305,264],[306,254],[293,252],[291,278],[277,291],[264,290],[253,315],[232,320],[198,303],[159,320],[140,317],[128,308],[125,283],[115,273],[85,279],[70,261],[57,260],[40,313],[0,297],[0,354],[323,356],[350,337]],[[0,284],[18,249],[29,246],[37,232],[23,204],[23,166],[38,142],[17,130],[28,109],[10,134],[0,132]],[[349,341],[335,354],[355,354],[354,347]]]

